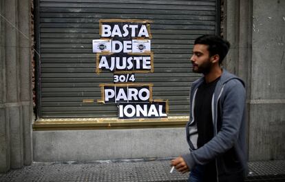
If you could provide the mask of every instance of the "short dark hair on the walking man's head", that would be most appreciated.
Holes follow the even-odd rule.
[[[226,41],[216,35],[203,35],[201,37],[198,37],[195,40],[194,44],[208,45],[210,57],[215,54],[218,54],[220,57],[220,64],[222,63],[224,57],[226,57],[226,54],[228,53],[230,48],[229,41]]]

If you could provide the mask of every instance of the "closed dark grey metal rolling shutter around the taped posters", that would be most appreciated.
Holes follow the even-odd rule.
[[[38,0],[39,117],[117,117],[116,105],[96,102],[99,83],[113,82],[111,72],[95,73],[99,19],[153,21],[154,73],[136,74],[136,82],[154,83],[154,99],[169,100],[169,115],[189,114],[189,88],[200,77],[189,60],[193,40],[218,32],[216,7],[215,0]]]

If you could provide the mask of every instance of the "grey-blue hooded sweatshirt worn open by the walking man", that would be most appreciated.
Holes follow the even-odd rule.
[[[194,108],[196,92],[203,80],[200,78],[191,85],[190,119],[186,125],[190,152],[182,155],[182,158],[190,170],[197,164],[205,165],[215,160],[217,181],[243,181],[248,172],[244,82],[226,70],[222,71],[211,101],[214,136],[197,148]]]

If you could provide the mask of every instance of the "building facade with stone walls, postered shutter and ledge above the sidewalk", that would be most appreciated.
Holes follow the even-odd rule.
[[[184,124],[189,88],[200,77],[191,72],[189,57],[193,40],[202,34],[222,34],[230,41],[224,68],[246,82],[249,159],[284,159],[284,9],[279,0],[1,1],[1,172],[32,161],[160,158],[188,152]],[[104,39],[106,22],[113,28],[105,36],[108,41],[125,41],[125,47],[151,42],[149,52],[131,54],[145,60],[149,55],[149,61],[141,62],[144,68],[138,61],[133,70],[116,72],[107,69],[112,61],[101,62],[106,55],[94,52],[92,40]],[[134,31],[123,36],[120,30]],[[116,52],[116,57],[123,60],[128,51]],[[127,81],[131,75],[134,79]],[[120,83],[115,77],[122,78]],[[125,91],[116,91],[115,83],[121,90],[147,90],[138,98],[148,96],[148,103],[119,103]],[[116,97],[108,103],[107,89],[112,87]],[[149,108],[134,117],[130,109],[138,110],[142,103]],[[120,107],[129,110],[120,112]],[[131,118],[120,119],[120,113]]]

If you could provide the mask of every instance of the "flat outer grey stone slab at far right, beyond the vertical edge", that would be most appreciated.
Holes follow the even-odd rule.
[[[285,159],[285,1],[253,7],[249,156]]]

